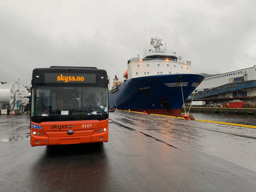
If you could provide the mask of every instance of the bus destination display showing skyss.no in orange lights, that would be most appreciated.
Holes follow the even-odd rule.
[[[96,74],[45,73],[45,83],[96,83]]]

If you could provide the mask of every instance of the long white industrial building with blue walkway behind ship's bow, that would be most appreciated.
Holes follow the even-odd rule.
[[[191,94],[187,101],[193,98]],[[256,65],[219,75],[206,77],[196,88],[193,100],[222,103],[240,99],[256,103]]]

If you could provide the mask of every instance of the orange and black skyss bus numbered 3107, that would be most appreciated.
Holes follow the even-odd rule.
[[[31,146],[108,142],[105,70],[36,68],[31,84]]]

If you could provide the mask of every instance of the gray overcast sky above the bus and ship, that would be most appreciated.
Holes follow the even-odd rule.
[[[51,65],[96,66],[123,79],[150,37],[192,61],[195,73],[256,64],[256,1],[1,0],[0,81]]]

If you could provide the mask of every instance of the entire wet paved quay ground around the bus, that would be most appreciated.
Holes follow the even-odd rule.
[[[29,121],[0,116],[0,191],[256,191],[256,129],[117,111],[108,143],[30,147]]]

